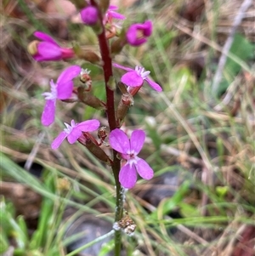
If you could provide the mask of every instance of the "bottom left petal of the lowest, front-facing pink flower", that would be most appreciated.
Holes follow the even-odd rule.
[[[134,168],[134,165],[130,165],[129,163],[126,163],[120,171],[119,174],[119,181],[121,185],[126,189],[131,189],[135,185],[137,180],[137,174],[136,170]]]

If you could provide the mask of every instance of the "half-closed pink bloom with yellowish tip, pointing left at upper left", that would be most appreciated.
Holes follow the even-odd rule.
[[[34,36],[42,40],[42,42],[37,42],[36,48],[30,50],[37,61],[65,60],[75,55],[72,48],[61,48],[48,34],[36,31]]]

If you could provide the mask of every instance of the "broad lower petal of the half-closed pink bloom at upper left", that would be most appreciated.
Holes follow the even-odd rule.
[[[61,60],[61,49],[52,43],[38,43],[37,51],[38,53],[34,56],[35,60]]]

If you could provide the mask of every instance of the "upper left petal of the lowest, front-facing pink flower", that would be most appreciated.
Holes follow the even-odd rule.
[[[129,139],[121,129],[116,128],[115,130],[111,131],[109,142],[114,150],[122,154],[126,154],[127,151],[130,151]]]

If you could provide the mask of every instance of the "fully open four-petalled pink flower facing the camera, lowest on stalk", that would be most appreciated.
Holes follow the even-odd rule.
[[[126,164],[121,168],[119,181],[121,185],[127,189],[133,188],[137,180],[137,174],[143,179],[151,179],[153,170],[150,165],[137,155],[144,145],[145,133],[143,130],[135,130],[128,139],[127,135],[116,128],[111,131],[109,141],[111,147],[121,153],[123,159],[127,160]]]

